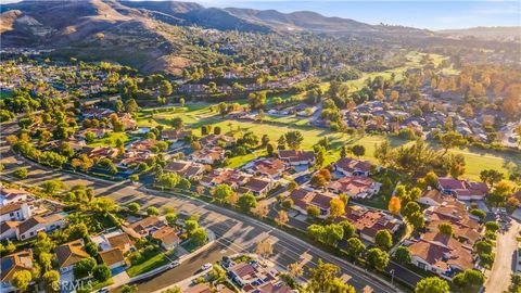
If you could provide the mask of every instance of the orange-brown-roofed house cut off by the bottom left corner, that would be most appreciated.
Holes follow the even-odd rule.
[[[24,250],[17,253],[13,253],[7,256],[3,256],[0,259],[0,292],[14,292],[15,286],[12,285],[11,281],[13,280],[14,273],[22,270],[31,270],[33,269],[33,251]]]

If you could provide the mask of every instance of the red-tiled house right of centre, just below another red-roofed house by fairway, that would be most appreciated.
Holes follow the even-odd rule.
[[[328,184],[327,189],[333,193],[345,193],[351,198],[369,199],[380,191],[381,183],[369,177],[346,176]]]

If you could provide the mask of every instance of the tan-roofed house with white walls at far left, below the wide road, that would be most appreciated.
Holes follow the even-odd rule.
[[[50,232],[62,228],[65,222],[64,213],[55,213],[48,216],[34,216],[18,225],[16,229],[16,239],[26,240],[34,238],[39,231]]]

